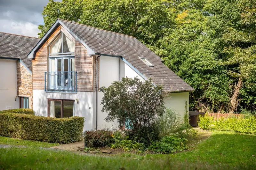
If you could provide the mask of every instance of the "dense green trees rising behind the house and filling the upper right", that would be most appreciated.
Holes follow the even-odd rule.
[[[256,108],[255,0],[50,0],[43,16],[40,37],[57,18],[135,36],[196,89],[192,109]]]

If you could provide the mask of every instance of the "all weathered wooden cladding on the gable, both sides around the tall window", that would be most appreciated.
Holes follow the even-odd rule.
[[[36,52],[32,61],[33,90],[44,90],[44,72],[48,69],[48,46],[63,32],[75,42],[75,71],[77,71],[77,91],[92,92],[96,86],[96,58],[87,54],[87,49],[62,26],[57,27],[44,45]]]

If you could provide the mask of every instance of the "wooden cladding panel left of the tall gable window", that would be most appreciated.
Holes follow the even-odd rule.
[[[44,90],[44,72],[47,71],[47,42],[36,52],[32,60],[33,90]]]

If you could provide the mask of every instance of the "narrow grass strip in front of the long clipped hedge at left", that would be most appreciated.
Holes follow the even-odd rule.
[[[0,144],[44,147],[44,148],[50,148],[52,146],[58,145],[56,143],[39,142],[34,140],[24,140],[24,139],[16,139],[11,137],[2,137],[2,136],[0,136]]]

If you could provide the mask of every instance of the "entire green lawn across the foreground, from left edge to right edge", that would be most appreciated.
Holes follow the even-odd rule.
[[[187,152],[114,157],[13,147],[0,149],[0,169],[256,169],[255,141],[256,135],[213,131]]]

